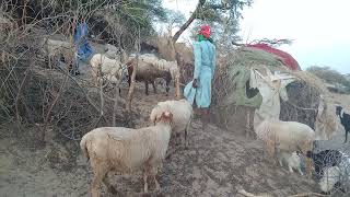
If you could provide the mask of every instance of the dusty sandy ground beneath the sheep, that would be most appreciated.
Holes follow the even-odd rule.
[[[122,90],[124,95],[126,91]],[[151,88],[150,95],[145,96],[143,84],[138,84],[133,103],[141,118],[137,120],[137,127],[149,125],[151,108],[172,95],[174,89],[171,96],[165,96],[163,89],[159,88],[159,93],[154,94]],[[236,128],[237,134],[242,129]],[[1,196],[90,196],[92,173],[79,150],[79,141],[51,132],[51,140],[42,147],[36,141],[36,132],[33,126],[26,130],[19,130],[15,125],[1,127]],[[268,193],[278,197],[318,192],[314,181],[275,166],[264,158],[260,142],[237,134],[221,130],[214,125],[202,128],[201,121],[195,119],[189,131],[188,150],[182,146],[170,147],[176,152],[164,161],[159,173],[162,193],[150,195],[233,197],[238,196],[236,192],[241,186],[249,193]],[[109,173],[109,178],[120,196],[143,195],[140,175]],[[153,187],[151,182],[151,189]],[[104,196],[112,196],[104,186],[102,190]]]

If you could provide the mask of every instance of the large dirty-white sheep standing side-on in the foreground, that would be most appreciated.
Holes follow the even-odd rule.
[[[147,178],[150,175],[160,190],[155,175],[168,147],[172,119],[172,113],[164,112],[155,126],[140,129],[102,127],[85,134],[80,148],[94,172],[92,196],[100,196],[101,182],[110,193],[116,193],[106,177],[109,171],[124,174],[143,171],[144,192],[148,193]]]

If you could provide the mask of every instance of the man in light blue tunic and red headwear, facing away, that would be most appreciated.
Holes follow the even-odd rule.
[[[210,26],[203,25],[198,33],[198,40],[194,43],[195,73],[194,80],[184,90],[184,96],[191,104],[196,102],[201,112],[205,124],[209,121],[209,106],[211,103],[211,81],[215,71],[215,46],[210,37]]]

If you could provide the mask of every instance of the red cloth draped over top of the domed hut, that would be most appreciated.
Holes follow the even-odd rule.
[[[282,62],[289,69],[291,69],[291,70],[301,70],[298,61],[290,54],[288,54],[288,53],[285,53],[283,50],[279,50],[279,49],[272,48],[267,44],[255,44],[255,45],[246,45],[246,46],[250,47],[250,48],[261,49],[261,50],[265,50],[265,51],[270,53],[270,54],[275,54],[275,55],[279,56],[282,59]]]

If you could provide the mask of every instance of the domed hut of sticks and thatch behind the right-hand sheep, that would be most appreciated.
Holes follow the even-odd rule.
[[[280,99],[281,120],[294,120],[315,128],[319,96],[325,93],[322,81],[305,71],[292,71],[280,57],[267,51],[241,47],[218,60],[212,88],[212,119],[230,131],[243,131],[247,118],[253,123],[254,112],[262,96],[250,88],[252,70],[267,74],[267,70],[289,73],[295,80],[285,86],[288,101]],[[250,112],[250,117],[247,117]]]

